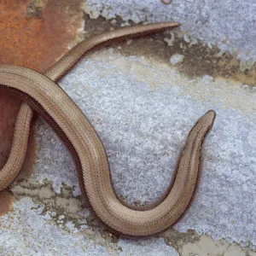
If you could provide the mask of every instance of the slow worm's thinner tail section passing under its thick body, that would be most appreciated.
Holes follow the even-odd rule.
[[[64,73],[67,73],[84,54],[90,52],[91,49],[114,44],[127,38],[137,38],[143,35],[161,32],[176,26],[179,26],[179,23],[169,22],[144,26],[127,26],[116,31],[104,32],[99,36],[86,39],[76,45],[73,49],[68,51],[66,55],[61,57],[53,67],[50,67],[45,75],[49,77],[49,79],[56,81],[60,79]],[[22,104],[15,123],[15,132],[9,158],[2,170],[0,170],[0,181],[2,181],[0,182],[0,191],[9,187],[9,184],[15,180],[15,177],[19,174],[24,163],[31,120],[32,108],[26,104]],[[21,148],[20,145],[22,145]]]

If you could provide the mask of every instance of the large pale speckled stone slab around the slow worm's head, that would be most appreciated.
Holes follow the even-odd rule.
[[[166,189],[190,128],[215,109],[195,199],[175,228],[256,245],[253,92],[210,76],[190,80],[165,63],[111,49],[80,61],[61,86],[96,127],[114,187],[128,201],[154,201]],[[77,186],[70,156],[49,131],[41,122],[35,182],[50,177],[55,188]]]

